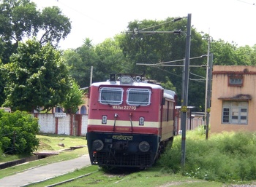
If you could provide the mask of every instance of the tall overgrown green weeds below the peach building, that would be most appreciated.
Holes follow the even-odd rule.
[[[202,131],[197,131],[202,132]],[[182,172],[191,178],[223,183],[256,179],[256,135],[254,132],[224,132],[205,140],[197,132],[188,132],[186,164],[181,170],[181,137],[161,157],[162,167]]]

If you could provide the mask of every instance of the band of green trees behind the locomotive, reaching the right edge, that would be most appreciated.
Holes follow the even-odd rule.
[[[93,81],[105,81],[110,73],[133,73],[146,76],[162,83],[166,88],[176,90],[177,105],[181,101],[182,65],[184,63],[187,20],[173,22],[173,17],[166,20],[135,20],[128,24],[127,32],[113,39],[106,39],[94,47],[86,39],[82,47],[67,50],[64,57],[70,66],[72,78],[80,87],[88,87],[90,71],[93,66]],[[176,31],[173,33],[143,33],[140,31]],[[137,32],[138,31],[138,32]],[[208,35],[198,33],[192,27],[190,65],[206,65],[208,53]],[[254,65],[256,62],[255,47],[237,47],[236,44],[222,40],[211,41],[210,51],[214,53],[214,65]],[[173,62],[175,61],[175,63]],[[168,63],[173,62],[173,63]],[[137,65],[145,63],[147,65]],[[157,65],[165,63],[162,66]],[[154,64],[154,65],[150,65]],[[206,68],[189,69],[189,106],[202,111],[205,105]]]

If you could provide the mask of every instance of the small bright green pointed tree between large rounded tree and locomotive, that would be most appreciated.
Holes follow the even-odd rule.
[[[66,113],[75,114],[78,111],[78,107],[84,103],[83,97],[83,89],[80,89],[78,84],[72,80],[69,92],[67,92],[65,97],[66,100],[64,100],[61,106],[65,108]]]

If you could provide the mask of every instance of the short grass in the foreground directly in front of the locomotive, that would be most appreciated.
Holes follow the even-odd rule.
[[[86,173],[93,172],[91,175],[83,178],[78,178],[72,180],[69,183],[61,184],[61,186],[97,186],[97,187],[126,187],[134,186],[195,186],[195,187],[219,187],[223,186],[219,182],[208,182],[206,180],[198,180],[195,178],[187,178],[182,175],[167,174],[162,172],[160,167],[151,167],[148,170],[143,170],[139,172],[132,172],[131,174],[126,171],[123,172],[105,172],[96,166],[84,167],[81,170],[77,170],[67,175],[62,175],[57,178],[50,180],[45,180],[42,183],[31,184],[29,187],[41,187],[50,186],[59,183],[70,178],[78,177],[79,175],[84,175]]]

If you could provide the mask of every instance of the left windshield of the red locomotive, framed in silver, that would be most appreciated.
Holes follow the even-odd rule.
[[[99,103],[105,105],[121,105],[123,101],[122,88],[101,87],[99,89]]]

